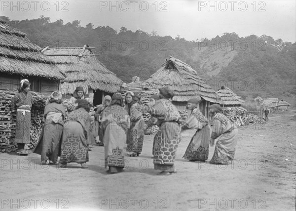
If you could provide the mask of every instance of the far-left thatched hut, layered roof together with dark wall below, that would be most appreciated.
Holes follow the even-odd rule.
[[[0,20],[0,89],[16,89],[24,78],[33,91],[49,94],[59,89],[65,77],[25,33]]]

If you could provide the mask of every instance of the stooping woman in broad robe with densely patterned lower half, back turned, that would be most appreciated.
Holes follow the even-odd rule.
[[[68,121],[63,128],[61,144],[62,168],[67,167],[67,163],[81,164],[81,168],[86,167],[88,162],[87,135],[90,124],[89,111],[91,104],[87,100],[79,100],[74,111],[69,114]]]

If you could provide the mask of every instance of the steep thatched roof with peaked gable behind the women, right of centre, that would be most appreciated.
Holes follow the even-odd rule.
[[[147,82],[157,87],[168,85],[175,92],[173,101],[185,102],[193,97],[219,103],[219,96],[195,70],[183,61],[170,56],[156,73],[152,74]]]

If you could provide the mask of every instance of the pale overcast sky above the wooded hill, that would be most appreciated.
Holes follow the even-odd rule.
[[[188,41],[235,32],[240,37],[265,34],[296,42],[295,0],[212,0],[210,4],[208,0],[28,0],[12,5],[10,0],[0,0],[0,12],[11,20],[44,15],[52,22],[80,20],[81,26],[92,23],[94,28],[110,26],[117,32],[124,26],[132,31],[156,31],[160,36],[180,35]]]

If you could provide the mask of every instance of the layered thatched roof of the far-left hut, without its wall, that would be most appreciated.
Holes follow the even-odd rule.
[[[26,34],[0,20],[0,72],[51,80],[64,79],[54,62]]]

